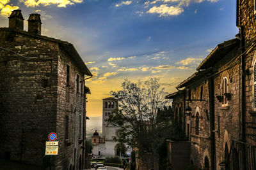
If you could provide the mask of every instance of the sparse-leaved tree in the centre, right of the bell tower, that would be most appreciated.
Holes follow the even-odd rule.
[[[115,141],[138,148],[138,155],[157,155],[157,148],[170,136],[172,108],[166,100],[164,89],[160,88],[159,78],[147,81],[122,83],[122,90],[111,91],[118,99],[118,110],[107,119],[109,124],[120,127]]]

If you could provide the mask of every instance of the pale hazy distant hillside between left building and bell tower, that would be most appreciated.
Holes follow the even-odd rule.
[[[86,136],[92,136],[95,130],[102,133],[102,117],[89,117],[90,120],[86,120]]]

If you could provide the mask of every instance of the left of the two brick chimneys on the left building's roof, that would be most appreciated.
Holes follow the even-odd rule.
[[[21,10],[14,10],[9,18],[9,28],[23,30],[24,18],[22,17]]]

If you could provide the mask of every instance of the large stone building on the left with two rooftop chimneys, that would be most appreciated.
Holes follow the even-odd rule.
[[[41,35],[40,15],[23,30],[20,10],[0,28],[0,157],[37,169],[82,169],[89,69],[67,41]],[[45,156],[56,132],[58,155]]]

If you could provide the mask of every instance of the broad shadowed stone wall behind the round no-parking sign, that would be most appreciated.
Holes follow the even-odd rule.
[[[0,156],[42,166],[56,131],[58,44],[10,29],[0,35],[8,48],[0,53]]]

